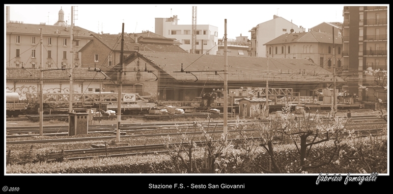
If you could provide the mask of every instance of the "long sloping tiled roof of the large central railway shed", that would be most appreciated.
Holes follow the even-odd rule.
[[[224,56],[140,51],[151,64],[182,81],[224,81]],[[183,64],[183,73],[180,72]],[[228,81],[266,81],[267,58],[227,56]],[[304,70],[304,71],[303,71]],[[199,71],[199,72],[196,72]],[[210,71],[210,72],[207,72]],[[215,75],[217,71],[218,75]],[[190,73],[186,73],[190,72]],[[333,74],[306,59],[269,58],[269,81],[331,82]],[[340,80],[341,81],[341,80]]]

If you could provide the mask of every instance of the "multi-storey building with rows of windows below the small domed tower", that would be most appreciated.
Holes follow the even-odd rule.
[[[80,67],[80,53],[70,52],[71,28],[42,24],[6,23],[6,68],[39,68],[41,62],[40,30],[43,37],[43,67],[61,68]],[[86,45],[94,32],[74,26],[74,48]],[[74,59],[74,60],[72,60]]]

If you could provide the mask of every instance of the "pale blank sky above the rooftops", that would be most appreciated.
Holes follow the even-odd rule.
[[[242,34],[250,39],[249,30],[272,20],[273,15],[301,25],[306,31],[323,22],[343,22],[345,4],[5,4],[4,13],[5,6],[10,6],[11,21],[50,25],[57,22],[60,8],[64,11],[64,21],[69,21],[71,6],[77,6],[75,25],[111,34],[120,33],[122,23],[127,33],[154,32],[155,18],[173,15],[180,19],[178,24],[190,25],[192,7],[197,6],[197,24],[217,26],[219,38],[224,37],[226,19],[227,38],[235,39]]]

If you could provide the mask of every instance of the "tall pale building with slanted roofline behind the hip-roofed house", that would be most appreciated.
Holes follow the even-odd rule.
[[[293,29],[293,31],[291,31]],[[305,28],[297,26],[279,16],[274,15],[273,20],[261,23],[253,27],[251,32],[251,56],[265,57],[265,43],[291,32],[305,32]]]

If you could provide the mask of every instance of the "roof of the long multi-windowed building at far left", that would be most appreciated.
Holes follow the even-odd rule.
[[[22,24],[22,23],[6,23],[6,33],[21,33],[21,34],[36,34],[40,35],[40,31],[37,29],[42,28],[43,35],[60,35],[60,36],[71,36],[71,28],[65,26],[56,25],[41,25],[41,24]],[[67,30],[66,30],[67,29]],[[74,32],[78,31],[80,37],[90,37],[90,34],[94,32],[84,29],[79,26],[74,26]],[[57,33],[58,32],[58,33]]]

